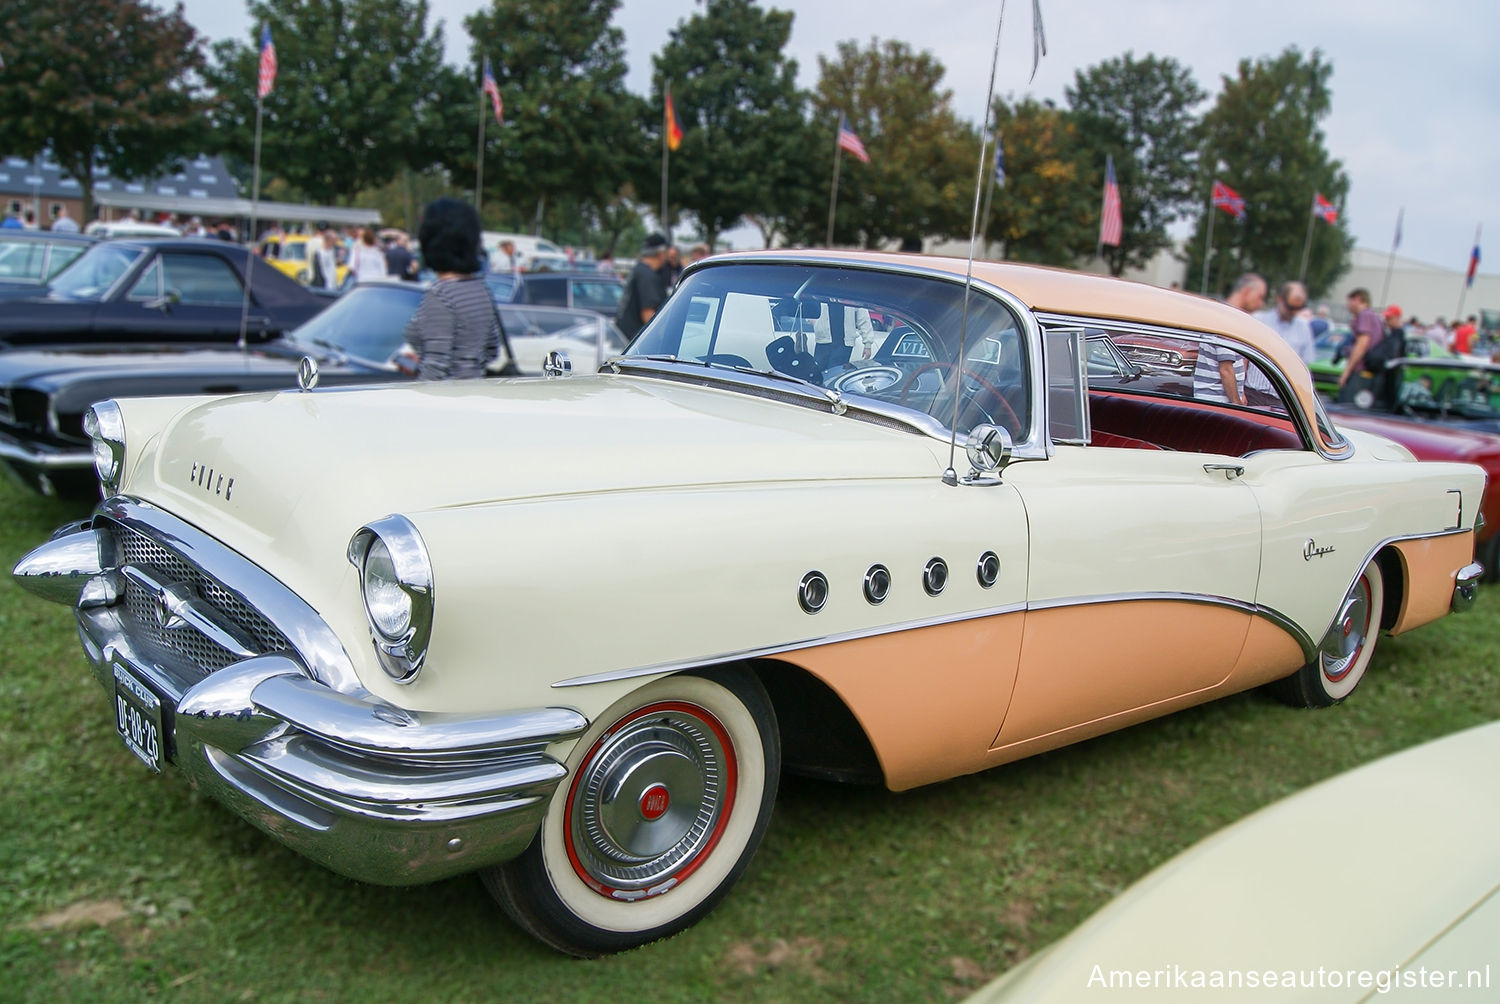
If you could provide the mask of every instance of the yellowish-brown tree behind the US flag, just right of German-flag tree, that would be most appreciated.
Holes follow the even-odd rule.
[[[978,135],[952,111],[944,66],[904,42],[840,42],[836,59],[818,57],[813,135],[806,162],[818,198],[808,200],[796,236],[826,240],[838,116],[860,135],[870,164],[848,153],[838,174],[834,243],[876,248],[903,237],[968,236],[974,215]]]

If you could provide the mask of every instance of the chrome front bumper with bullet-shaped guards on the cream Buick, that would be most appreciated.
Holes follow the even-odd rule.
[[[141,512],[128,504],[112,515]],[[546,750],[580,735],[582,714],[408,711],[363,690],[342,693],[288,651],[194,680],[132,639],[110,531],[93,522],[63,527],[12,575],[75,605],[100,684],[112,690],[120,666],[162,699],[166,759],[198,788],[314,861],[381,885],[495,864],[531,842],[567,774]],[[208,545],[192,533],[189,551],[201,555]]]

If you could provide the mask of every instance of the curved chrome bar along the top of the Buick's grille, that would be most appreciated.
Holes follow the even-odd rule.
[[[333,629],[296,591],[261,566],[202,530],[130,495],[114,495],[100,503],[93,524],[99,525],[100,519],[118,522],[158,540],[237,594],[286,636],[314,680],[351,696],[369,693]]]

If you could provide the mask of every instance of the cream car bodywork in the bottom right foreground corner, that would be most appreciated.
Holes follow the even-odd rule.
[[[1492,1001],[1497,762],[1492,722],[1268,806],[1172,858],[970,1004]]]

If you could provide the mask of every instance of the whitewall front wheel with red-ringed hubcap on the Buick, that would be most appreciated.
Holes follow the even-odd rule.
[[[724,668],[616,702],[567,767],[531,845],[482,878],[526,932],[596,956],[676,933],[718,903],[771,821],[782,752],[760,681]]]

